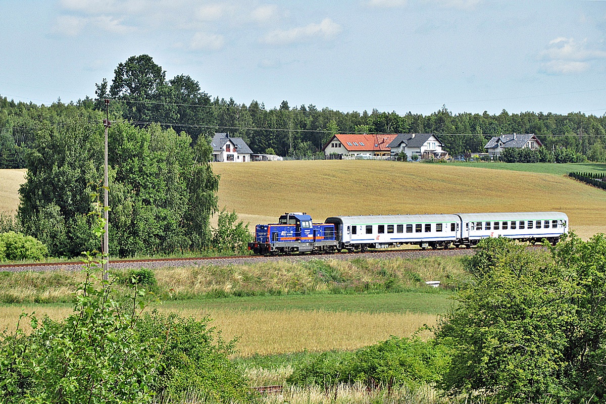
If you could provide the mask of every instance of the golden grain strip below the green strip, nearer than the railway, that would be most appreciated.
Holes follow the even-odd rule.
[[[222,310],[178,308],[178,303],[160,305],[159,311],[176,311],[183,317],[202,319],[209,315],[211,325],[221,330],[226,340],[238,337],[238,355],[280,354],[287,352],[357,349],[386,340],[392,335],[411,336],[424,324],[435,325],[437,316],[423,313],[351,313],[302,310]],[[0,330],[14,331],[19,314],[36,312],[61,319],[72,313],[70,306],[18,305],[2,306]],[[279,326],[276,326],[279,324]],[[30,331],[29,322],[22,322]],[[429,336],[425,331],[422,337]]]

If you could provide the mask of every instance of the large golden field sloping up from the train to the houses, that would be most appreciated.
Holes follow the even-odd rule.
[[[394,161],[215,163],[219,208],[249,222],[285,211],[356,214],[562,211],[584,239],[606,233],[606,193],[565,176]]]

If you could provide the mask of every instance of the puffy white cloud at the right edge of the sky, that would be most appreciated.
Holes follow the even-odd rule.
[[[539,54],[542,67],[548,73],[572,74],[589,70],[590,61],[606,58],[606,52],[587,48],[587,40],[576,42],[563,36],[552,39]]]

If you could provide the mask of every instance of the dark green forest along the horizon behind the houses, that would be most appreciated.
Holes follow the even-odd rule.
[[[148,55],[132,56],[118,64],[111,82],[95,85],[95,97],[51,105],[15,102],[0,94],[0,168],[24,168],[28,150],[40,128],[62,125],[78,117],[95,125],[105,117],[138,127],[160,124],[185,132],[192,143],[210,139],[215,131],[242,137],[255,153],[268,149],[281,156],[311,157],[335,133],[436,133],[451,156],[484,151],[491,136],[534,133],[545,148],[567,148],[590,161],[606,161],[606,116],[581,112],[554,114],[534,111],[499,114],[487,111],[453,113],[444,105],[431,114],[395,111],[338,111],[316,105],[268,108],[263,102],[236,102],[211,96],[188,75],[167,79]]]

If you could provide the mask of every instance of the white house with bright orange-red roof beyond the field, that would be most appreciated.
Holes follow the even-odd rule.
[[[355,157],[383,156],[389,157],[389,144],[397,134],[335,134],[324,146],[326,156]]]

